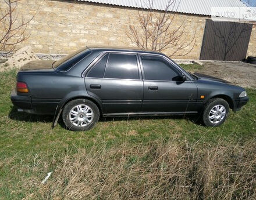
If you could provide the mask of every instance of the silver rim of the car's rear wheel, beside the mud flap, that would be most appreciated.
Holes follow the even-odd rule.
[[[74,126],[87,126],[93,121],[93,118],[93,110],[86,104],[74,106],[69,112],[69,120]]]

